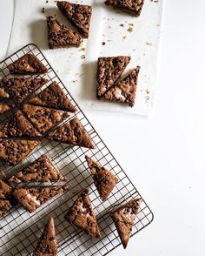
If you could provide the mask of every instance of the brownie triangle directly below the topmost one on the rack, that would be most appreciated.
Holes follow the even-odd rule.
[[[10,98],[14,98],[17,103],[23,102],[25,98],[47,82],[48,80],[43,77],[14,77],[2,79],[4,87],[10,92]]]

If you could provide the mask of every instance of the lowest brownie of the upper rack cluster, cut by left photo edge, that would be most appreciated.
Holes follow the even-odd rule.
[[[0,139],[0,159],[7,165],[17,165],[39,144],[38,140]]]

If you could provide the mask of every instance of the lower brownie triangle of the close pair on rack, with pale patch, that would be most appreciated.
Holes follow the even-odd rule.
[[[69,185],[35,186],[16,188],[13,192],[17,202],[27,211],[35,212],[38,207],[55,197],[68,192]]]

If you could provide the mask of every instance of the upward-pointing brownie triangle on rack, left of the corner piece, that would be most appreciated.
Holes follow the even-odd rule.
[[[87,189],[78,196],[74,205],[72,205],[69,212],[66,213],[65,219],[67,219],[70,224],[83,229],[90,237],[96,239],[101,237]]]

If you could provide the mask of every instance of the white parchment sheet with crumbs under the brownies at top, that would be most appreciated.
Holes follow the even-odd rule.
[[[37,44],[83,110],[118,111],[149,116],[153,111],[155,98],[162,0],[145,0],[140,17],[113,10],[104,4],[104,0],[69,2],[93,6],[90,37],[83,40],[80,48],[49,49],[46,16],[56,15],[56,19],[72,28],[57,10],[56,1],[50,0],[46,3],[46,0],[16,0],[8,53],[17,51],[24,44]],[[133,108],[96,99],[97,58],[118,55],[132,57],[124,75],[136,65],[141,66],[136,104]]]

